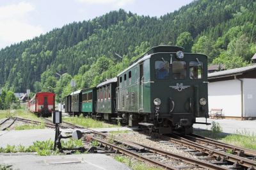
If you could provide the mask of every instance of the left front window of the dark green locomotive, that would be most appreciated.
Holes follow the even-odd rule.
[[[170,70],[168,61],[156,61],[155,70],[157,79],[168,79]]]

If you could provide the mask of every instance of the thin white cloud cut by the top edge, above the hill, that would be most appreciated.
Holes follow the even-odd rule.
[[[81,3],[88,3],[88,4],[110,4],[116,7],[122,7],[126,4],[134,3],[134,0],[77,0]]]

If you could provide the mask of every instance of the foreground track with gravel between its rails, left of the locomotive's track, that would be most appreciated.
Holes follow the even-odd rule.
[[[202,160],[195,160],[194,158],[183,157],[182,155],[177,155],[169,151],[163,151],[143,144],[125,141],[124,139],[115,138],[109,143],[108,141],[111,137],[106,134],[100,135],[99,137],[99,134],[100,132],[97,132],[96,136],[98,137],[92,135],[88,135],[87,137],[98,141],[100,143],[100,148],[104,148],[103,150],[105,151],[115,150],[117,153],[123,153],[143,162],[147,162],[148,164],[163,167],[164,169],[227,169],[227,167],[221,167]]]

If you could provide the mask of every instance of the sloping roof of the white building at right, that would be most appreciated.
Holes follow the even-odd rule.
[[[256,69],[256,65],[252,65],[252,66],[244,66],[241,68],[234,68],[230,70],[224,70],[220,72],[213,72],[208,74],[208,79],[215,79],[218,77],[228,77],[233,75],[241,75],[244,72],[248,72],[250,70],[255,70],[255,69]]]

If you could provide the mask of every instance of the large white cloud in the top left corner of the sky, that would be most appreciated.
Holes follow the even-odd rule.
[[[29,24],[28,18],[33,12],[34,6],[25,2],[0,6],[0,48],[44,32],[42,27]]]

